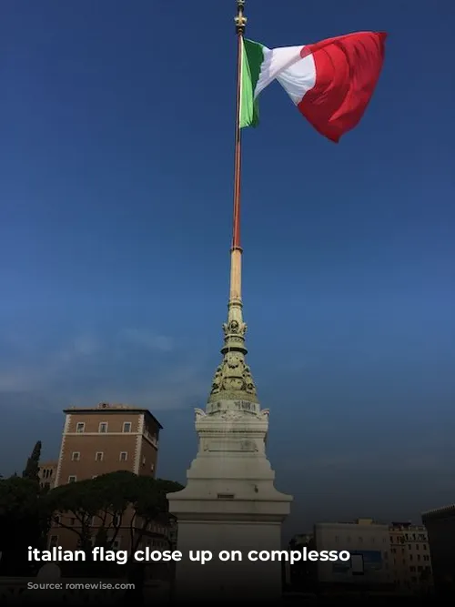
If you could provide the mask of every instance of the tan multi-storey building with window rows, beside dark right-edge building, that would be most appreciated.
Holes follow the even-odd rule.
[[[430,542],[422,525],[392,522],[390,533],[390,565],[395,587],[400,592],[430,592],[433,586]]]

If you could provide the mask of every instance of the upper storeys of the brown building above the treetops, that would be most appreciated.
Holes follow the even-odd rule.
[[[162,426],[149,410],[101,403],[64,413],[56,487],[117,470],[155,476]]]

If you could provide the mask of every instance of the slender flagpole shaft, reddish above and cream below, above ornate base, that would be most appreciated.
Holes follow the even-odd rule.
[[[242,94],[242,56],[243,35],[247,25],[247,17],[244,15],[245,0],[237,0],[237,16],[235,18],[238,37],[237,53],[237,102],[236,102],[236,137],[234,154],[234,213],[232,225],[232,247],[231,247],[231,269],[230,269],[230,293],[229,304],[241,303],[241,258],[242,248],[240,245],[240,180],[242,142],[240,129],[240,110]]]

